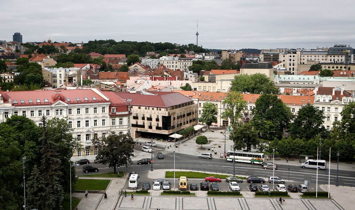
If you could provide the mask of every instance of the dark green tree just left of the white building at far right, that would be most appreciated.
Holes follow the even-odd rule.
[[[322,126],[325,116],[311,104],[302,106],[294,122],[290,124],[290,135],[293,138],[306,138],[307,140],[323,134],[326,129]]]

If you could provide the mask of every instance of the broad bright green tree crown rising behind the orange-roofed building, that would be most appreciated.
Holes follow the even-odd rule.
[[[260,94],[278,94],[279,88],[275,87],[274,82],[265,74],[239,74],[234,76],[231,82],[231,90],[237,92],[249,92]]]

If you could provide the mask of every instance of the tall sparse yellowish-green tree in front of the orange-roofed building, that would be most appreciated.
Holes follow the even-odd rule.
[[[230,124],[233,126],[240,117],[240,112],[246,107],[246,101],[239,92],[229,92],[223,99],[223,104],[226,105],[226,109],[222,112],[221,117],[224,120],[230,119]]]

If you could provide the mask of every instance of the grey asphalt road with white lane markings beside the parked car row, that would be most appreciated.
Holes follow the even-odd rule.
[[[153,153],[154,154],[154,153]],[[149,158],[150,155],[147,154],[144,156],[145,158]],[[106,173],[113,171],[112,168],[108,168],[102,164],[94,164],[94,167],[99,168],[99,172],[90,172],[92,173]],[[76,166],[77,175],[84,175],[82,171],[83,165]],[[164,154],[164,159],[158,159],[156,156],[153,156],[153,170],[154,169],[173,169],[174,168],[174,153]],[[233,173],[233,162],[226,161],[220,158],[212,158],[212,159],[204,159],[198,158],[195,155],[188,155],[182,153],[175,154],[175,168],[181,170],[193,170],[198,172],[207,172],[207,173],[223,173],[227,175],[232,175]],[[128,167],[121,167],[120,170],[124,172],[136,171],[140,175],[140,184],[138,189],[142,187],[142,183],[144,181],[148,181],[152,183],[152,179],[147,178],[148,171],[151,170],[151,165],[137,165],[137,161],[133,161],[132,165],[128,165]],[[268,182],[268,177],[273,176],[273,170],[263,169],[260,164],[248,164],[248,163],[240,163],[235,162],[235,173],[237,176],[258,176],[260,178],[264,178],[266,180],[266,184],[270,189],[273,189],[273,184]],[[274,171],[274,176],[278,176],[280,178],[290,180],[286,181],[284,184],[287,186],[291,183],[296,185],[304,184],[305,180],[310,181],[310,186],[308,188],[310,190],[315,189],[316,187],[316,173],[317,170],[313,168],[301,168],[300,166],[294,165],[282,165],[278,164],[277,170]],[[337,170],[331,170],[331,178],[330,183],[335,184],[336,181]],[[163,178],[163,177],[156,177]],[[178,188],[178,178],[175,179],[175,187]],[[174,180],[167,179],[171,181],[171,188],[174,187]],[[200,184],[200,182],[204,181],[204,179],[189,179],[188,183],[196,183]],[[355,171],[344,171],[339,170],[339,186],[342,186],[345,183],[346,186],[352,184],[355,186]],[[276,185],[278,183],[274,183],[274,189],[276,189]],[[327,170],[318,170],[318,184],[328,184],[328,169]],[[259,185],[259,184],[257,184]],[[230,190],[228,187],[228,182],[222,179],[222,182],[219,183],[220,190]],[[244,181],[240,184],[241,191],[247,191],[249,183]],[[128,188],[128,186],[127,186]]]

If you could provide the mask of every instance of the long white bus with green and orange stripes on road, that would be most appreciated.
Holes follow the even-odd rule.
[[[227,161],[249,162],[251,164],[262,164],[264,162],[264,153],[252,153],[244,151],[229,150],[226,154]]]

